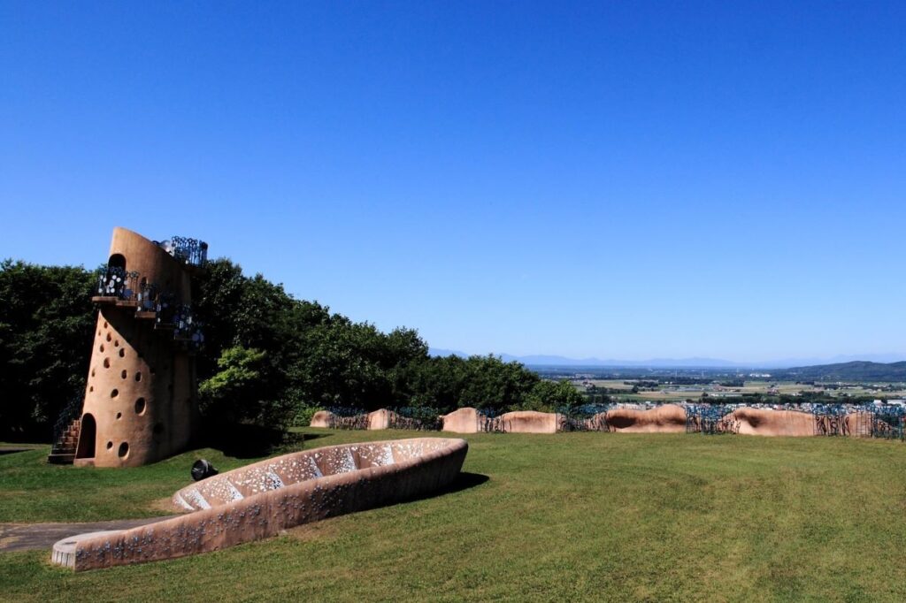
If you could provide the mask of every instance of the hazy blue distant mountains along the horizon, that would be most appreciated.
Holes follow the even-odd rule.
[[[429,349],[431,356],[459,356],[467,358],[469,354],[455,349]],[[816,369],[818,372],[843,371],[845,372],[871,372],[873,369],[865,365],[877,365],[875,372],[883,373],[890,363],[906,365],[906,354],[863,354],[852,356],[835,356],[833,358],[812,359],[779,359],[763,362],[734,362],[732,360],[713,358],[683,358],[683,359],[649,359],[649,360],[619,360],[583,358],[574,359],[564,356],[513,356],[512,354],[499,354],[506,362],[516,360],[529,367],[597,367],[597,368],[651,368],[651,369],[789,369],[800,370]],[[848,368],[847,368],[848,367]],[[861,367],[861,368],[860,368]],[[894,367],[894,371],[896,371]],[[854,378],[854,377],[846,377]],[[866,377],[869,378],[869,377]],[[843,379],[843,378],[841,378]]]

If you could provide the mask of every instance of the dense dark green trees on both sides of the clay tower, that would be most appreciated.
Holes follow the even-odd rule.
[[[49,436],[61,408],[82,397],[96,280],[81,267],[0,264],[0,436]],[[430,357],[416,330],[353,322],[226,259],[208,263],[194,287],[207,422],[284,426],[320,407],[499,412],[583,401],[568,382],[542,380],[517,362]]]

